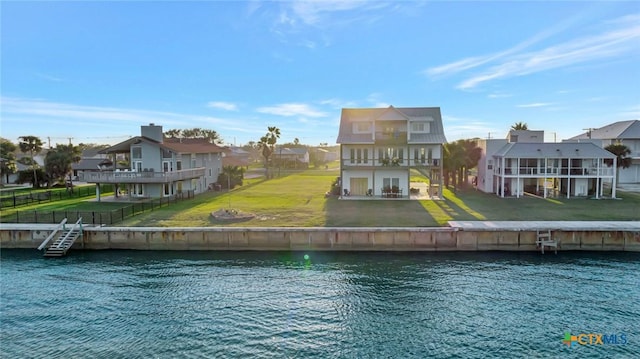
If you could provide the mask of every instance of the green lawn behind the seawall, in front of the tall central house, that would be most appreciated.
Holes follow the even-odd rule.
[[[138,215],[125,226],[442,226],[458,220],[640,220],[640,194],[620,200],[505,198],[474,190],[445,190],[443,201],[339,200],[325,198],[335,170],[306,170],[246,181],[231,192],[208,192]],[[256,215],[242,222],[212,220],[223,208]]]

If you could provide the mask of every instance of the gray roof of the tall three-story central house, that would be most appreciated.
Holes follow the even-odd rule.
[[[340,129],[336,143],[343,144],[370,144],[374,143],[370,133],[353,133],[353,123],[357,121],[388,121],[389,115],[396,115],[399,121],[420,120],[427,117],[433,118],[430,122],[430,133],[412,134],[408,142],[412,143],[445,143],[447,139],[442,126],[440,107],[393,107],[386,108],[343,108],[340,117]]]

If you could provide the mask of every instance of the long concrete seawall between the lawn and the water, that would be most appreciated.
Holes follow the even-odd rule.
[[[600,223],[600,225],[598,225]],[[54,225],[3,224],[0,247],[37,248]],[[640,252],[639,222],[451,222],[435,228],[87,227],[77,249],[538,251],[550,230],[558,250]]]

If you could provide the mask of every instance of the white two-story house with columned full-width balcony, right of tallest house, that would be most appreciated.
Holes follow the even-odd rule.
[[[523,133],[529,132],[529,133]],[[480,140],[476,188],[500,197],[615,198],[615,156],[593,143],[544,142],[543,131],[511,131]],[[614,162],[612,167],[607,161]]]

